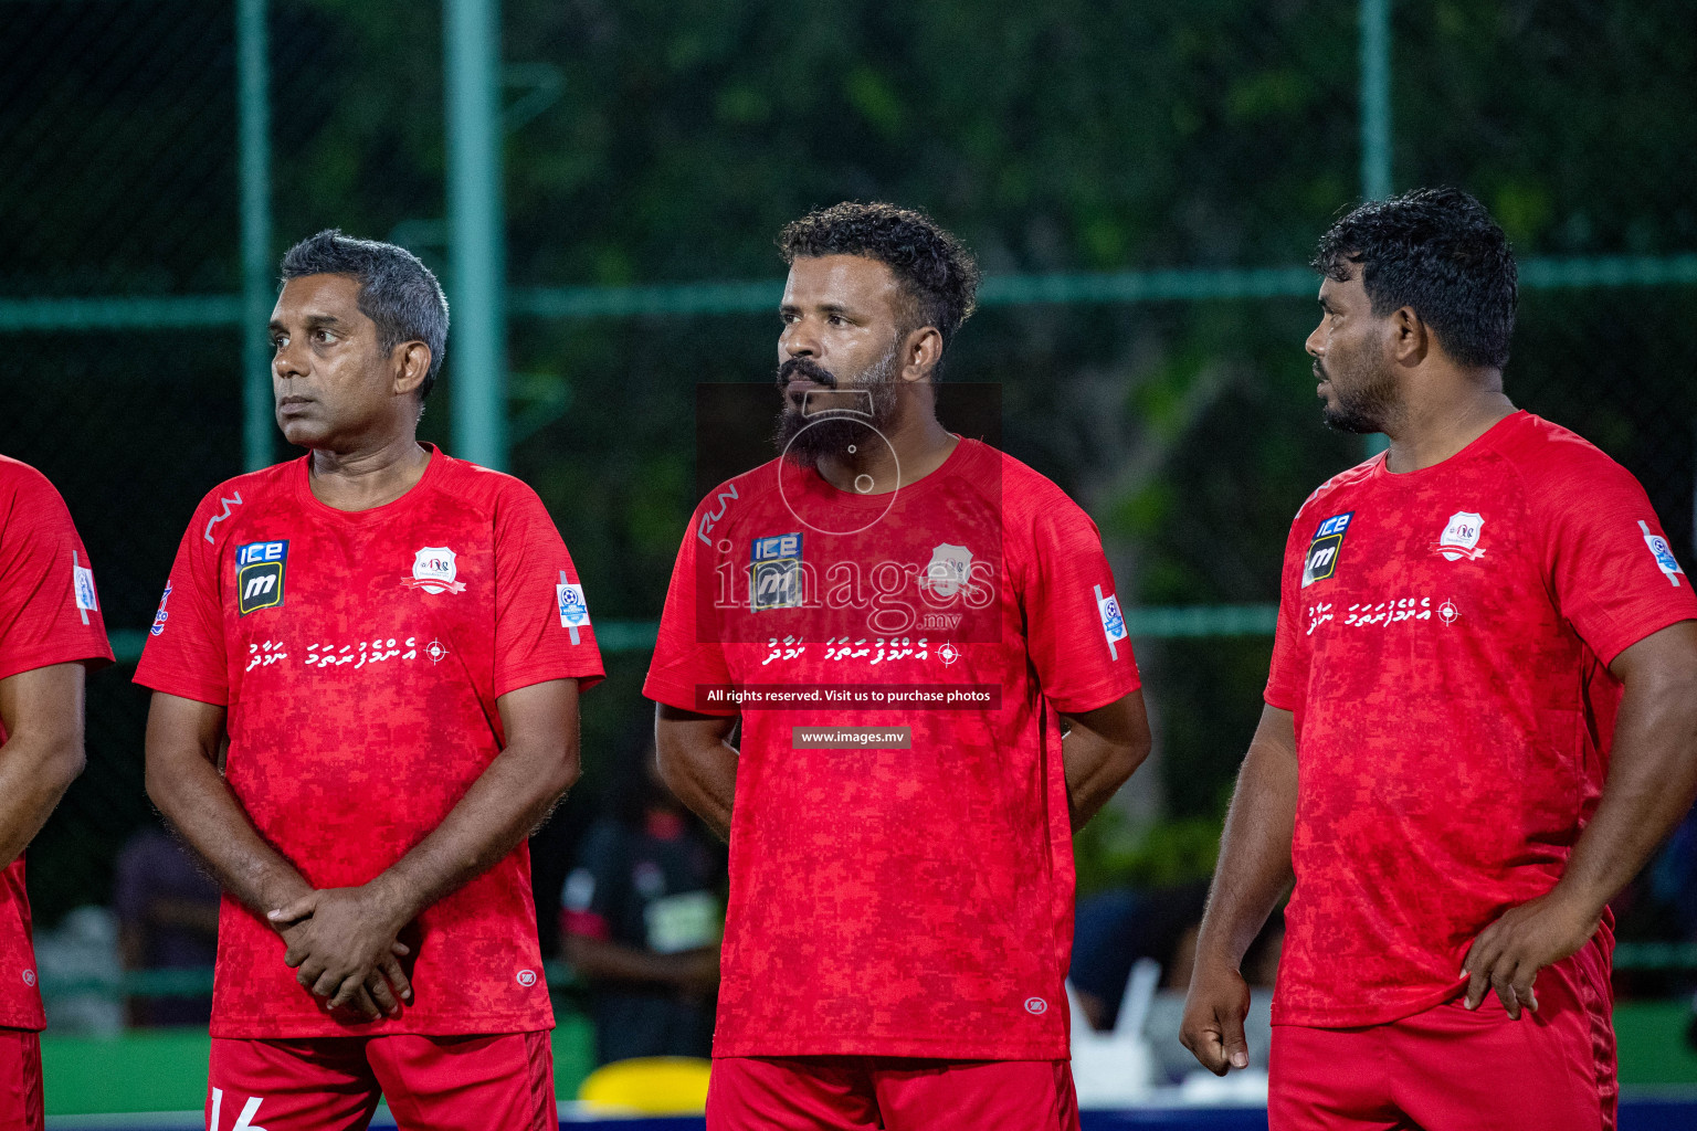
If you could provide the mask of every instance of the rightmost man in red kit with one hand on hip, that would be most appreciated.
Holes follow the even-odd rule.
[[[1690,578],[1638,480],[1504,393],[1476,200],[1361,205],[1315,268],[1325,422],[1390,448],[1291,526],[1185,1045],[1249,1063],[1239,963],[1295,883],[1274,1131],[1612,1128],[1609,900],[1697,794]]]

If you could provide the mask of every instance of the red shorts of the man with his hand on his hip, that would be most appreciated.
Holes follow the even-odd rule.
[[[1609,961],[1595,946],[1539,972],[1537,1012],[1495,994],[1359,1029],[1273,1026],[1271,1131],[1612,1131]]]

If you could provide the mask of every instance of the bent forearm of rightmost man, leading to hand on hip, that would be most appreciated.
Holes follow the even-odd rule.
[[[1649,861],[1697,797],[1697,688],[1627,687],[1597,812],[1554,895],[1597,917]]]

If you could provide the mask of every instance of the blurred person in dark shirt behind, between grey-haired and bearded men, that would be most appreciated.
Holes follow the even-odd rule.
[[[709,1056],[725,850],[660,782],[652,743],[619,763],[611,802],[560,892],[565,960],[591,987],[596,1060]]]

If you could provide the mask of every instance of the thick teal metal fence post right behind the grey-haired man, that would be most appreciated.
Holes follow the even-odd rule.
[[[443,0],[443,54],[455,454],[504,470],[507,390],[499,0]]]

